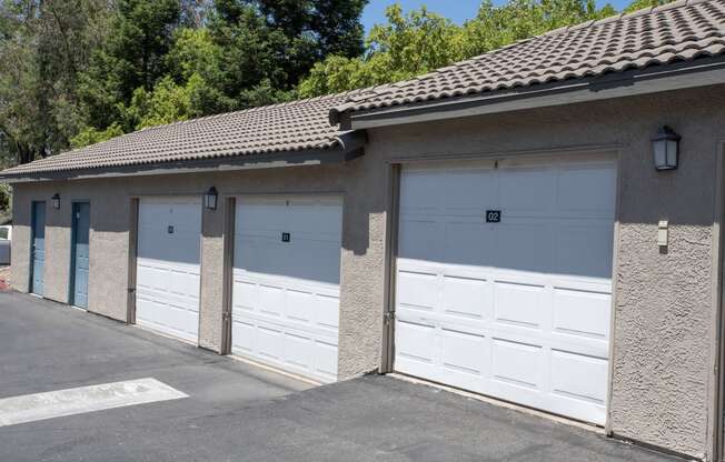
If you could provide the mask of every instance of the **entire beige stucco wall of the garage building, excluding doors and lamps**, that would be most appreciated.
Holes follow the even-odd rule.
[[[59,192],[48,213],[47,297],[67,300],[69,201],[91,200],[89,309],[126,319],[131,195],[341,192],[339,372],[375,370],[380,361],[387,160],[506,157],[594,148],[619,162],[615,255],[615,330],[610,430],[623,438],[696,458],[711,451],[715,392],[716,303],[713,265],[715,178],[725,140],[725,86],[679,93],[528,110],[369,131],[366,155],[345,165],[216,174],[54,182],[14,189],[13,283],[27,290],[30,201]],[[649,138],[662,124],[683,135],[681,168],[656,172]],[[200,343],[221,342],[225,201],[205,212]],[[656,245],[659,219],[671,245]],[[58,267],[58,268],[52,268]]]

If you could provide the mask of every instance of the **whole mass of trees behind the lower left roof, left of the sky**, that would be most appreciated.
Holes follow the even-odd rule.
[[[367,0],[0,0],[0,158],[295,94],[362,51]]]

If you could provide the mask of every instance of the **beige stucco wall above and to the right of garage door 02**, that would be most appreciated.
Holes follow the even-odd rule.
[[[696,458],[711,450],[715,178],[725,87],[369,132],[367,154],[420,158],[618,152],[619,201],[610,429]],[[679,169],[657,172],[649,139],[682,134]],[[656,244],[668,219],[669,247]]]

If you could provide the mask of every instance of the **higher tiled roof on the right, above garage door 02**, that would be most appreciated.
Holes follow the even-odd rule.
[[[465,98],[536,83],[714,57],[725,51],[725,0],[679,0],[554,30],[413,80],[348,96],[342,112]]]

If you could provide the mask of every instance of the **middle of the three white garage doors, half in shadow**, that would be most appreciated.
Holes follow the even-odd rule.
[[[337,379],[341,227],[338,198],[238,200],[236,354],[320,382]]]

